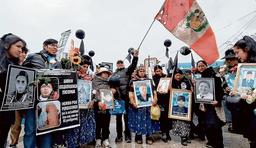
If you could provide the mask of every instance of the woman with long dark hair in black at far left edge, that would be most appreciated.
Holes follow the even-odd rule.
[[[0,98],[4,98],[9,65],[20,66],[20,53],[26,48],[26,42],[14,34],[5,34],[0,38]],[[0,105],[2,105],[0,100]],[[0,147],[4,147],[11,125],[15,122],[15,111],[0,112]]]

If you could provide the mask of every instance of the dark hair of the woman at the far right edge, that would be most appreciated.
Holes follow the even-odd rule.
[[[242,39],[235,43],[234,47],[241,48],[243,51],[246,51],[247,47],[247,61],[253,63],[256,62],[256,41],[252,37],[244,36]]]

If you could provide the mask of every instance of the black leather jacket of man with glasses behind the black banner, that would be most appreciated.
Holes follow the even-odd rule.
[[[45,62],[47,61],[46,55],[47,53],[44,49],[41,50],[39,53],[31,53],[25,59],[22,67],[28,67],[33,69],[46,69]],[[55,69],[62,69],[61,64],[57,59],[55,59],[56,63],[54,64]]]

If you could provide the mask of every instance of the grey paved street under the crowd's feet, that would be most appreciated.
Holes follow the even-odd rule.
[[[10,133],[9,133],[10,134]],[[18,148],[24,148],[23,146],[23,135],[24,135],[24,125],[22,124],[22,132],[20,134],[19,138],[19,144],[17,145]],[[170,132],[170,135],[172,137],[171,141],[168,141],[168,143],[162,142],[161,134],[153,134],[152,137],[154,138],[154,143],[152,145],[148,145],[145,142],[145,136],[143,136],[143,144],[137,144],[134,142],[135,134],[132,134],[132,143],[126,143],[126,142],[117,142],[115,143],[116,138],[116,120],[115,116],[111,117],[111,124],[110,124],[110,144],[112,145],[112,148],[205,148],[205,144],[207,140],[200,141],[199,139],[192,140],[191,144],[188,144],[188,146],[182,146],[180,137],[176,137],[172,135],[172,132]],[[225,148],[249,148],[248,140],[243,138],[242,135],[238,134],[232,134],[228,132],[228,126],[223,127],[223,137],[224,137],[224,146]],[[8,137],[9,143],[10,136]],[[9,145],[9,144],[8,144]],[[59,148],[65,148],[59,146]],[[82,148],[94,148],[93,145],[87,145],[85,144],[82,146]],[[103,148],[103,147],[102,147]]]

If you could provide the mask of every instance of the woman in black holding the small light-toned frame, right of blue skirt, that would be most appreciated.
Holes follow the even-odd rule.
[[[156,65],[154,67],[154,72],[156,74],[153,76],[153,81],[156,86],[158,86],[161,78],[166,77],[166,75],[163,73],[162,70],[163,69],[160,65]],[[164,81],[164,82],[166,82],[166,81]],[[162,82],[162,83],[164,83],[164,82]],[[167,85],[167,83],[166,83],[166,85]],[[170,90],[170,85],[167,85],[167,87],[168,87],[168,90]],[[156,93],[157,93],[157,98],[158,98],[157,104],[161,111],[159,122],[160,122],[160,130],[162,132],[162,141],[168,142],[168,140],[172,140],[172,138],[170,137],[170,130],[172,130],[172,119],[168,118],[169,103],[170,103],[170,91],[168,91],[168,93],[166,93],[164,91],[157,91]]]

